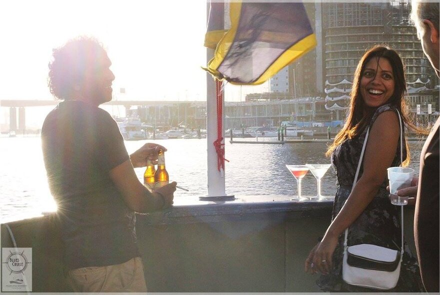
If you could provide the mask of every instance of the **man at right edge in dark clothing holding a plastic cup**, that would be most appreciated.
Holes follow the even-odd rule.
[[[440,76],[439,3],[412,0],[411,6],[411,19],[417,29],[423,52],[437,76]],[[428,292],[440,291],[439,126],[440,118],[437,118],[421,150],[419,175],[412,179],[417,185],[397,191],[398,195],[416,195],[414,241],[421,279]]]

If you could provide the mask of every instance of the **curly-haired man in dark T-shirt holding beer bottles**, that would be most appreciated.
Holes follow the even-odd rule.
[[[147,143],[128,155],[116,122],[98,107],[111,100],[110,65],[93,38],[53,50],[49,88],[63,101],[44,120],[43,158],[73,290],[144,292],[134,212],[170,206],[176,183],[150,192],[137,179],[133,167],[166,149]]]

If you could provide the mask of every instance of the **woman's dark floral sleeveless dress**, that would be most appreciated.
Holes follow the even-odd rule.
[[[371,119],[370,128],[377,116],[386,110],[394,110],[389,104],[378,107]],[[337,146],[332,155],[331,163],[336,169],[338,187],[334,197],[332,218],[334,218],[351,192],[357,163],[366,129],[356,138],[347,139]],[[403,135],[404,136],[404,135]],[[400,140],[400,138],[399,138]],[[403,138],[404,140],[404,138]],[[404,141],[403,141],[404,142]],[[400,143],[400,141],[399,141]],[[404,146],[404,145],[403,145]],[[403,158],[405,158],[403,149]],[[391,166],[400,165],[400,144],[398,144]],[[359,176],[362,175],[363,165],[360,166]],[[362,214],[351,224],[348,230],[348,245],[370,243],[394,249],[400,249],[400,206],[389,202],[387,181],[384,181],[376,196],[368,204]],[[343,233],[333,253],[333,268],[327,275],[321,275],[317,280],[323,291],[336,292],[371,292],[370,288],[349,285],[342,280]],[[382,290],[383,291],[383,290]],[[420,292],[424,291],[419,274],[416,257],[408,245],[404,245],[403,260],[400,267],[400,277],[395,288],[390,292]]]

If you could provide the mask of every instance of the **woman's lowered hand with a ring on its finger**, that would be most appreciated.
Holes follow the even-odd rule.
[[[313,268],[323,274],[328,274],[332,267],[331,258],[337,245],[337,236],[325,234],[322,240],[315,246],[313,254]]]

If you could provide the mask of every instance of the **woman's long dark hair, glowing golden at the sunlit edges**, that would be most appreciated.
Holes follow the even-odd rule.
[[[406,92],[405,74],[403,70],[403,63],[400,56],[393,49],[383,46],[375,45],[368,49],[360,58],[357,64],[356,71],[354,72],[353,85],[351,90],[350,107],[348,115],[345,119],[345,123],[342,129],[334,137],[333,143],[328,147],[325,155],[329,156],[336,146],[341,144],[345,139],[351,139],[359,134],[368,126],[376,107],[369,107],[365,104],[363,97],[360,93],[360,80],[362,73],[365,69],[365,65],[371,58],[377,57],[386,58],[392,67],[394,78],[394,91],[391,97],[385,103],[389,103],[394,106],[399,112],[406,126],[420,132],[425,133],[424,130],[416,127],[412,123],[409,111],[406,107],[404,94]],[[409,163],[409,148],[407,142],[405,142],[406,159],[402,165],[406,166]]]

